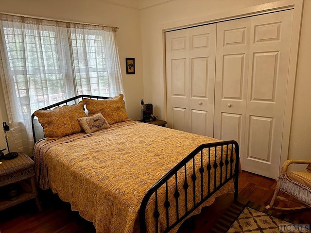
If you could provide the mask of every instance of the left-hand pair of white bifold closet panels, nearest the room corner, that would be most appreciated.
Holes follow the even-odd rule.
[[[168,127],[212,137],[216,25],[165,37]]]

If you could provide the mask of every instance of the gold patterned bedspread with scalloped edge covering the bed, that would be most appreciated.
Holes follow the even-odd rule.
[[[199,145],[216,141],[130,120],[95,133],[38,141],[35,173],[40,188],[50,187],[70,202],[97,233],[138,232],[139,206],[148,189]],[[228,191],[233,191],[232,182],[203,206]],[[152,224],[153,209],[148,210],[147,224]]]

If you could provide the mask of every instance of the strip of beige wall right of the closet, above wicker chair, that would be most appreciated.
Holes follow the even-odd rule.
[[[304,1],[289,158],[311,160],[311,0]]]

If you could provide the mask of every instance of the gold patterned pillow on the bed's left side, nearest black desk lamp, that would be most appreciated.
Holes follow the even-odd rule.
[[[84,102],[56,107],[53,110],[37,110],[35,116],[43,127],[47,139],[57,139],[73,133],[83,132],[78,118],[85,117]]]

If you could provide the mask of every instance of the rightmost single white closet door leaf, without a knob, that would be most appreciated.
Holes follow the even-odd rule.
[[[277,178],[293,10],[252,17],[244,170]]]

